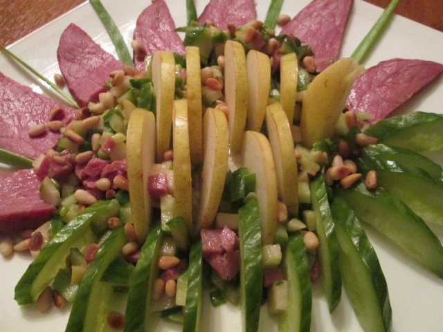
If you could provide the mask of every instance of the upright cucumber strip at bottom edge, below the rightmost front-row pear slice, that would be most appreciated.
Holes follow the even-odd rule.
[[[280,314],[279,331],[311,329],[312,291],[305,241],[300,232],[289,238],[284,254],[284,273],[288,279],[288,308]]]

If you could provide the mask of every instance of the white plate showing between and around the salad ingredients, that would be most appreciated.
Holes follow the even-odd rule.
[[[206,1],[196,1],[197,12],[201,12]],[[269,1],[257,2],[257,17],[264,19]],[[105,7],[114,17],[129,44],[132,30],[138,14],[150,1],[103,0]],[[308,0],[286,1],[282,13],[295,15],[309,3]],[[168,1],[172,16],[177,26],[186,24],[185,1]],[[381,14],[381,9],[357,0],[352,9],[350,21],[345,33],[341,55],[352,53],[365,33]],[[95,12],[89,3],[71,10],[66,15],[47,24],[43,28],[28,35],[10,48],[26,62],[46,77],[53,77],[58,71],[56,49],[64,28],[71,22],[78,24],[93,39],[111,53],[113,46],[105,33]],[[381,60],[394,57],[417,58],[443,63],[443,33],[422,26],[402,17],[395,17],[392,26],[379,41],[377,49],[366,61],[366,66],[373,66]],[[0,56],[0,71],[22,84],[33,86],[35,91],[42,91],[41,84],[13,62]],[[43,88],[46,93],[51,91]],[[442,79],[434,82],[408,102],[401,111],[431,111],[443,113]],[[440,240],[443,229],[435,229]],[[442,331],[443,326],[443,281],[428,273],[412,261],[395,246],[384,240],[379,234],[368,229],[368,235],[377,250],[381,267],[388,282],[390,301],[393,313],[393,331]],[[0,331],[64,331],[69,316],[69,308],[58,310],[53,308],[50,313],[42,315],[34,308],[20,308],[14,301],[14,287],[30,263],[30,258],[14,255],[12,259],[0,258]],[[361,331],[354,312],[344,296],[341,304],[329,315],[320,286],[314,287],[314,304],[311,331]],[[208,306],[205,306],[208,307]],[[262,310],[260,331],[273,331],[273,320]],[[208,318],[203,331],[241,331],[239,308],[221,306],[206,315]],[[210,327],[209,323],[210,322]],[[162,326],[158,331],[180,331],[178,326],[170,324]],[[275,330],[276,331],[276,330]]]

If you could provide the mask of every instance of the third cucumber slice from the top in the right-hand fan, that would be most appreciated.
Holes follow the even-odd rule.
[[[422,169],[400,167],[392,160],[379,156],[364,156],[357,160],[359,169],[375,169],[377,183],[403,201],[424,221],[443,225],[443,182],[431,178]]]

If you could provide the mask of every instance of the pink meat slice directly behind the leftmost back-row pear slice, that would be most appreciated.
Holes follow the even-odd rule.
[[[165,1],[158,0],[147,7],[137,19],[134,40],[143,46],[144,51],[134,51],[134,64],[137,69],[144,68],[145,55],[153,55],[156,50],[170,50],[185,54],[185,46]]]

